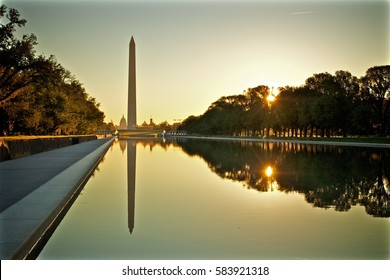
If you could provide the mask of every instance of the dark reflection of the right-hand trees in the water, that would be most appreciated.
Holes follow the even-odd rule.
[[[299,192],[315,207],[347,211],[361,204],[390,217],[389,151],[296,143],[188,140],[178,143],[222,178],[258,191]],[[272,178],[265,174],[272,167]]]

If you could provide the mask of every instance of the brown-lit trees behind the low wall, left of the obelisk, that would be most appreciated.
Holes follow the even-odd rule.
[[[0,135],[87,134],[104,113],[83,85],[54,56],[36,55],[34,34],[16,9],[0,6]]]

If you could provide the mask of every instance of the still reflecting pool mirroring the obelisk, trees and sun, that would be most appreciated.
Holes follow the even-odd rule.
[[[117,140],[38,259],[389,259],[390,150]]]

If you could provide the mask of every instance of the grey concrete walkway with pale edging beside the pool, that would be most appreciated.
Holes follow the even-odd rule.
[[[0,259],[28,257],[113,141],[104,138],[0,162]]]

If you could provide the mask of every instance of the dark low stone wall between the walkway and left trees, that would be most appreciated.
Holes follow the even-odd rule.
[[[97,139],[95,135],[34,139],[0,139],[0,161],[20,158]]]

